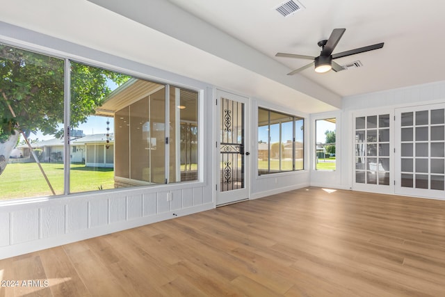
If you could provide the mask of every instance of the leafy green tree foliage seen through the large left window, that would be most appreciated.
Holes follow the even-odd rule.
[[[59,125],[64,119],[64,63],[60,58],[0,44],[0,175],[19,134],[29,136],[40,130],[63,136]],[[86,122],[102,105],[111,93],[108,81],[119,85],[129,79],[80,63],[70,63],[70,72],[72,128]]]

